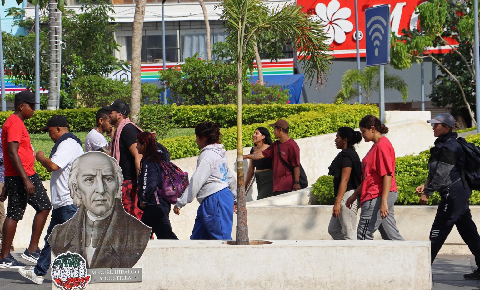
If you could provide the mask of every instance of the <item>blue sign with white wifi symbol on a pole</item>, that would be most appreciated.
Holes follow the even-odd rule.
[[[390,63],[390,4],[365,9],[367,67]]]

